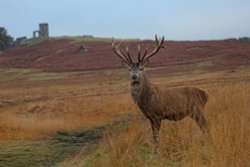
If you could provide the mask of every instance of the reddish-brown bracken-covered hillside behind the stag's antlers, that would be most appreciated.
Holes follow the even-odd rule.
[[[124,42],[136,55],[153,41]],[[78,49],[83,46],[87,51]],[[166,41],[166,49],[151,59],[150,66],[163,67],[164,72],[234,70],[250,65],[250,45],[238,40],[175,42]],[[136,57],[134,57],[136,58]],[[44,71],[82,71],[120,68],[121,63],[111,49],[111,41],[77,41],[53,39],[38,44],[8,49],[0,53],[0,68],[35,68]]]

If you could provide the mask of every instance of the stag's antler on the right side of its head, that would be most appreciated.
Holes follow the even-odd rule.
[[[158,39],[157,35],[155,35],[155,42],[156,42],[156,47],[150,53],[148,53],[148,48],[146,48],[142,59],[140,59],[140,57],[138,57],[139,62],[141,62],[141,63],[146,62],[150,57],[152,57],[156,53],[158,53],[161,48],[165,48],[165,46],[162,45],[164,42],[164,36],[162,38]],[[139,49],[138,49],[138,55],[140,55]]]

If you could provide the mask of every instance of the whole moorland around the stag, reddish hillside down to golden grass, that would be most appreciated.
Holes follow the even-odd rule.
[[[136,53],[138,43],[153,44],[124,46]],[[206,90],[210,134],[190,118],[164,121],[154,154],[111,40],[51,39],[0,53],[0,166],[250,166],[250,44],[165,45],[146,69],[150,81]]]

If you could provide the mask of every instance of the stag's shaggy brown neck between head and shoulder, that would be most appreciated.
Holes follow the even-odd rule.
[[[149,89],[150,84],[145,74],[143,74],[138,81],[131,81],[131,95],[134,102],[139,105]]]

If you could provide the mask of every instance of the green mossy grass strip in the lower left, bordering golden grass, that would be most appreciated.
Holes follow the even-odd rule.
[[[0,167],[53,166],[71,159],[79,152],[92,151],[110,126],[98,126],[77,132],[58,132],[58,135],[38,141],[0,142]]]

